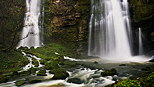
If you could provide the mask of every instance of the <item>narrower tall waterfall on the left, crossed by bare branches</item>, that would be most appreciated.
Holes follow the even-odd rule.
[[[19,47],[40,47],[39,17],[41,11],[41,0],[26,0],[27,12],[25,16],[24,28],[22,30]]]

